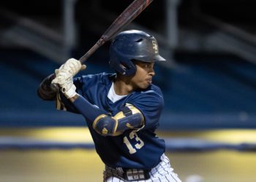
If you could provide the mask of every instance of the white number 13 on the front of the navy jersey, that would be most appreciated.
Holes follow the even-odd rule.
[[[133,147],[132,144],[129,142],[129,139],[132,140],[133,138],[138,141],[138,143],[135,144],[135,147]],[[144,142],[139,138],[135,131],[129,133],[129,139],[126,136],[124,137],[124,143],[129,149],[129,154],[134,154],[136,152],[136,149],[141,149],[141,147],[144,146]]]

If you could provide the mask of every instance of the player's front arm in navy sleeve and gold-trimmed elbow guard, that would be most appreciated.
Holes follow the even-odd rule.
[[[126,109],[118,112],[116,116],[111,116],[80,95],[75,95],[69,100],[86,118],[87,123],[91,124],[100,135],[121,135],[125,130],[138,129],[144,126],[143,114],[132,105],[124,106]]]

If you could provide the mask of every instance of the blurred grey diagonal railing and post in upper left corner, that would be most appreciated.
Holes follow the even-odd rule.
[[[75,0],[63,1],[63,32],[1,8],[0,15],[7,21],[7,28],[1,30],[0,44],[26,47],[63,63],[75,46],[74,5]]]

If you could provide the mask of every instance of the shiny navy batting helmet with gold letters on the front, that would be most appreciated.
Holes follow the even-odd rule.
[[[132,60],[151,63],[165,60],[159,55],[157,40],[143,31],[123,31],[110,44],[110,67],[125,76],[136,72]]]

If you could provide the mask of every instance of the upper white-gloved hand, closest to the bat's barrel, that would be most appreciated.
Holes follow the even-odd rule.
[[[58,76],[61,72],[69,73],[70,76],[75,76],[79,71],[84,70],[86,65],[82,65],[79,60],[70,58],[59,69],[56,69],[55,74]]]

